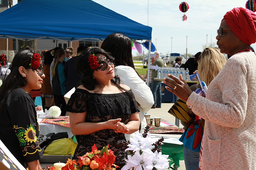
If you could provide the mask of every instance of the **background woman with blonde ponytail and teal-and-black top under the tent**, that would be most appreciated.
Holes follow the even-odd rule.
[[[52,75],[52,87],[51,93],[54,96],[55,106],[58,106],[61,109],[61,116],[66,115],[64,110],[66,107],[66,101],[64,95],[66,92],[66,83],[67,79],[64,76],[64,64],[62,63],[63,59],[66,57],[65,50],[59,49],[56,52],[56,56],[53,61],[53,67],[51,71]]]

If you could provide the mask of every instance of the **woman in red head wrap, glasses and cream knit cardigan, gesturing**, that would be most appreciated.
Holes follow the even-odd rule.
[[[208,87],[206,98],[192,92],[182,78],[164,78],[166,88],[187,101],[205,119],[201,169],[256,167],[256,15],[234,8],[224,15],[216,36],[220,52],[231,56]]]

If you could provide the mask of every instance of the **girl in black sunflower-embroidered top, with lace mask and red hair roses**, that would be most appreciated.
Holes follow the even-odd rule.
[[[39,126],[29,92],[41,88],[45,77],[43,63],[38,53],[23,50],[13,58],[12,67],[0,87],[0,139],[25,168],[38,170],[43,153],[38,145]]]

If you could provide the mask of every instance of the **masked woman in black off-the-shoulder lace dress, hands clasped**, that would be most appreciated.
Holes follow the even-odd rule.
[[[125,140],[124,134],[139,129],[139,108],[131,89],[119,84],[114,74],[113,58],[105,50],[92,47],[77,58],[77,69],[83,72],[81,84],[67,104],[70,127],[78,139],[73,159],[91,152],[92,146],[101,150],[109,145],[115,164],[125,165],[125,150],[116,146]]]

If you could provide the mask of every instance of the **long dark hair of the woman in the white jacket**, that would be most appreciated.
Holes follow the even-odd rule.
[[[115,66],[125,65],[132,67],[137,75],[133,64],[131,39],[121,33],[113,33],[102,42],[101,48],[110,52],[115,59]],[[141,78],[143,80],[143,78]]]

